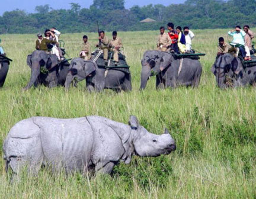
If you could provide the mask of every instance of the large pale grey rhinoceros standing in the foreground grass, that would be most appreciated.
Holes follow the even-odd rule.
[[[100,116],[72,119],[32,117],[15,124],[4,141],[7,171],[21,168],[37,174],[41,166],[53,172],[100,172],[110,174],[113,166],[130,163],[133,155],[168,155],[176,149],[168,130],[149,133],[135,116],[129,125]]]

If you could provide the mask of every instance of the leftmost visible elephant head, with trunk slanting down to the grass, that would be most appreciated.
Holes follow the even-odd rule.
[[[51,70],[57,66],[57,56],[55,54],[47,54],[42,50],[36,50],[27,56],[27,65],[31,68],[30,82],[24,88],[25,90],[31,88],[37,81],[40,75],[40,67],[45,66],[46,69]]]

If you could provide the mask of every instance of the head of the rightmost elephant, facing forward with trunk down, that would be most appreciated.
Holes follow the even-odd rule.
[[[229,86],[227,84],[228,79],[235,81],[236,77],[242,76],[243,71],[241,60],[229,53],[217,57],[212,66],[212,72],[219,88],[227,88]]]

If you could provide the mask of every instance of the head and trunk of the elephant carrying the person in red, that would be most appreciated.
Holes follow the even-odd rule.
[[[145,89],[149,76],[159,75],[171,64],[172,54],[160,52],[158,50],[150,50],[144,53],[142,58],[142,72],[140,89]]]

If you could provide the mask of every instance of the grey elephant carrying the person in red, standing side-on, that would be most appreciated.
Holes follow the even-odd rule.
[[[202,67],[199,60],[184,58],[180,70],[181,59],[174,54],[148,50],[142,59],[140,89],[145,89],[150,76],[156,75],[156,88],[177,88],[177,86],[199,86]],[[180,70],[180,73],[179,73]]]

